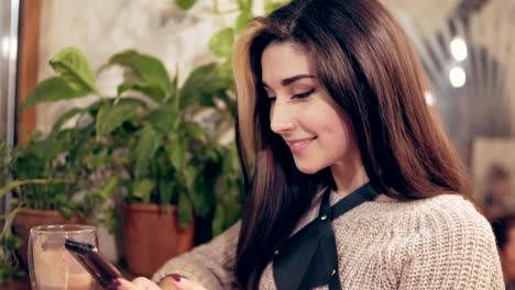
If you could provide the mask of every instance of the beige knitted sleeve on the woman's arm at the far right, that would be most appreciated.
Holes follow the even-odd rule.
[[[467,205],[435,212],[427,221],[426,233],[408,249],[398,289],[504,289],[492,228]]]

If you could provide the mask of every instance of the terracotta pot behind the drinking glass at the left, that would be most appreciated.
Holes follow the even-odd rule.
[[[86,224],[86,220],[79,214],[74,214],[69,220],[66,220],[58,211],[39,211],[21,209],[12,222],[13,234],[21,239],[18,255],[21,257],[22,263],[26,266],[28,261],[28,245],[31,227],[36,225],[52,225],[52,224]]]

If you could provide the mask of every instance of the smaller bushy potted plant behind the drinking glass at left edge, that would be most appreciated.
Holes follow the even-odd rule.
[[[26,266],[29,230],[32,226],[85,222],[84,208],[79,201],[73,200],[76,191],[74,170],[69,170],[64,149],[69,144],[61,134],[56,138],[61,140],[62,147],[52,146],[50,138],[33,140],[15,148],[1,144],[4,175],[0,197],[12,192],[0,233],[0,238],[6,242],[0,250],[3,278],[18,270],[18,257],[21,257],[21,266]],[[17,249],[18,256],[14,255]]]

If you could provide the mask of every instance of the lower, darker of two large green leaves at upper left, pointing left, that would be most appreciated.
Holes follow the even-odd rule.
[[[31,108],[41,102],[53,102],[58,100],[72,100],[84,97],[91,92],[86,89],[76,89],[69,86],[62,77],[53,77],[43,80],[29,94],[21,109]]]

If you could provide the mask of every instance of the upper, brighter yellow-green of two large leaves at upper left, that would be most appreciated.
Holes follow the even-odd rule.
[[[75,90],[98,92],[95,85],[95,74],[86,56],[79,49],[75,47],[64,48],[52,57],[50,64]]]

